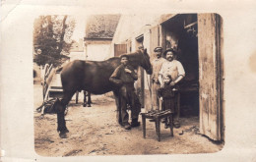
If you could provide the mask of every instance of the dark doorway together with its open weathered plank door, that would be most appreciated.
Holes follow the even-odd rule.
[[[177,51],[180,117],[198,119],[200,134],[224,140],[223,31],[217,14],[178,14],[160,24],[161,46]]]

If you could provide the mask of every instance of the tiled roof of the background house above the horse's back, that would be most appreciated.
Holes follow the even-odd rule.
[[[89,17],[85,38],[112,38],[120,15],[92,15]]]

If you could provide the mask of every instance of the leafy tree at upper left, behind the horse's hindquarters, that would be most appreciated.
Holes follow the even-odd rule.
[[[40,16],[33,25],[33,61],[37,65],[61,65],[68,57],[76,23],[68,16]],[[39,53],[37,51],[40,51]]]

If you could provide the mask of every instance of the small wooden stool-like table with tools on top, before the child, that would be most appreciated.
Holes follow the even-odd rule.
[[[146,119],[153,119],[156,122],[156,132],[158,135],[158,140],[160,141],[160,119],[168,118],[169,119],[169,127],[170,127],[170,135],[173,136],[173,117],[172,112],[170,110],[150,113],[141,113],[142,115],[142,125],[143,125],[143,137],[146,138]]]

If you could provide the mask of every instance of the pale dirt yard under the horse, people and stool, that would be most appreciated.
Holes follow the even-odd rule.
[[[125,131],[116,122],[114,99],[105,95],[93,95],[93,107],[83,107],[83,93],[79,103],[69,104],[66,125],[68,138],[57,133],[57,116],[34,111],[34,149],[41,156],[82,155],[145,155],[145,154],[187,154],[220,151],[224,144],[199,135],[198,117],[181,118],[181,127],[169,129],[160,127],[161,141],[157,140],[155,124],[147,120],[147,137],[143,138],[142,126]],[[42,103],[40,84],[34,84],[34,110]],[[140,118],[141,121],[141,118]]]

